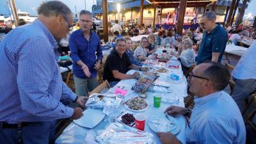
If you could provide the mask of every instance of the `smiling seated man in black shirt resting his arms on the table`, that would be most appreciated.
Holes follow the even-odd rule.
[[[146,70],[147,68],[132,64],[125,52],[124,38],[117,38],[116,47],[111,54],[109,54],[104,65],[103,79],[104,81],[107,79],[110,86],[113,87],[121,79],[134,79],[138,76],[139,72],[134,72],[132,75],[126,74],[130,69]]]

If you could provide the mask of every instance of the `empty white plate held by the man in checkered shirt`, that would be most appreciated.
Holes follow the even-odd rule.
[[[86,109],[83,111],[83,116],[78,120],[74,120],[74,123],[81,127],[93,128],[101,122],[105,114],[99,109]]]

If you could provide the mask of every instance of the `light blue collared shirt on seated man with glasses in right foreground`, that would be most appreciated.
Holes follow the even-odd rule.
[[[195,97],[186,138],[187,143],[244,144],[244,121],[232,97],[222,91]]]

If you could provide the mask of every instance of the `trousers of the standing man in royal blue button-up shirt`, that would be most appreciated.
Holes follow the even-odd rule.
[[[99,82],[97,77],[92,77],[89,79],[81,79],[79,77],[74,76],[75,87],[76,87],[76,95],[77,96],[87,96],[88,92],[92,92],[94,88],[99,86]]]

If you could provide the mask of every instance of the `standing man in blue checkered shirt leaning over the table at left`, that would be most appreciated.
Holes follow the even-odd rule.
[[[0,143],[49,143],[54,121],[78,119],[84,106],[63,83],[58,68],[58,44],[72,26],[70,9],[60,1],[38,8],[38,19],[13,29],[0,43]]]

